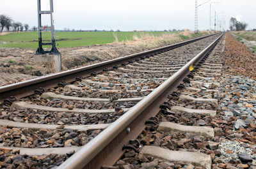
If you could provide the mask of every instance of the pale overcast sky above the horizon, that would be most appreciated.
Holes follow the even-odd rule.
[[[42,1],[42,10],[49,10],[49,0]],[[202,4],[207,0],[198,0]],[[198,29],[209,29],[210,4],[211,26],[214,28],[216,11],[221,26],[229,26],[230,17],[256,29],[255,0],[211,0],[198,7]],[[1,0],[0,14],[15,21],[37,26],[36,0]],[[50,25],[45,15],[43,25]],[[56,29],[105,29],[121,31],[195,29],[195,0],[54,0]],[[218,29],[220,29],[220,21]]]

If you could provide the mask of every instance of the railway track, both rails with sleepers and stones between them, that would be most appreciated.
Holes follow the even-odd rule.
[[[0,148],[19,156],[16,167],[31,159],[43,163],[32,167],[51,168],[77,151],[59,168],[111,165],[219,39],[215,34],[0,87]]]

